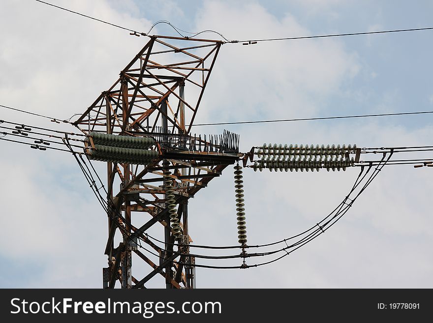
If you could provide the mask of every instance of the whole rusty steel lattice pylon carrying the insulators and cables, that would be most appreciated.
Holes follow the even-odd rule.
[[[152,137],[158,151],[158,158],[147,165],[107,162],[110,207],[105,249],[109,265],[103,270],[105,288],[114,288],[117,280],[122,288],[144,288],[156,275],[165,278],[166,288],[195,287],[195,260],[187,256],[192,241],[188,233],[188,199],[242,156],[235,134],[190,135],[221,45],[216,40],[152,36],[114,85],[74,122],[87,135],[100,132]],[[119,181],[120,189],[116,190]],[[169,212],[174,207],[173,200],[176,211]],[[135,212],[148,213],[150,217],[133,226],[131,217]],[[125,221],[118,214],[124,214]],[[181,235],[176,236],[178,251],[173,248],[175,235],[170,214],[180,224]],[[143,221],[143,216],[137,218]],[[164,249],[145,235],[154,225],[163,227]],[[115,247],[117,232],[122,233],[123,242]],[[137,239],[155,250],[158,264],[137,248]],[[148,274],[140,278],[132,275],[133,255],[134,262],[141,259],[150,265]]]

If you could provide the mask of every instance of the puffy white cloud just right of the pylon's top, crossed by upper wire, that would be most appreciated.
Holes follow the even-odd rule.
[[[257,4],[233,8],[216,1],[206,3],[197,26],[235,39],[309,34],[289,14],[278,21]],[[249,118],[293,117],[298,112],[309,116],[320,111],[321,99],[335,93],[359,70],[355,55],[335,41],[226,44],[218,64],[206,93],[211,105],[207,110],[212,112],[202,109],[200,120],[208,121],[216,111],[222,119],[239,120],[245,114],[241,107],[248,107]]]

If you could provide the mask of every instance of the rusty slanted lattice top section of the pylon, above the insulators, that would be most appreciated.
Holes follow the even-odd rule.
[[[87,133],[153,133],[157,126],[189,133],[221,44],[152,36],[74,124]]]

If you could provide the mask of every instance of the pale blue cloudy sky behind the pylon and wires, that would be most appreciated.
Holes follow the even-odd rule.
[[[142,32],[164,19],[186,31],[212,29],[242,40],[432,27],[433,11],[431,1],[403,0],[52,3]],[[432,32],[224,44],[196,122],[432,111]],[[151,33],[174,35],[165,25]],[[33,0],[2,1],[0,39],[0,104],[59,119],[84,112],[148,41]],[[75,131],[3,108],[0,119]],[[240,134],[241,151],[263,143],[428,146],[433,135],[431,115],[194,131],[223,129]],[[107,218],[75,160],[60,151],[35,151],[4,141],[0,149],[0,288],[102,287]],[[406,157],[432,156],[414,152]],[[103,163],[96,167],[105,174]],[[357,176],[357,169],[246,169],[248,243],[272,242],[316,224],[340,203]],[[427,167],[386,166],[324,235],[273,264],[243,270],[197,268],[197,287],[432,288],[431,176]],[[190,200],[194,243],[237,243],[233,185],[228,167]],[[148,272],[134,262],[134,276]],[[155,277],[149,287],[163,288],[164,281]]]

